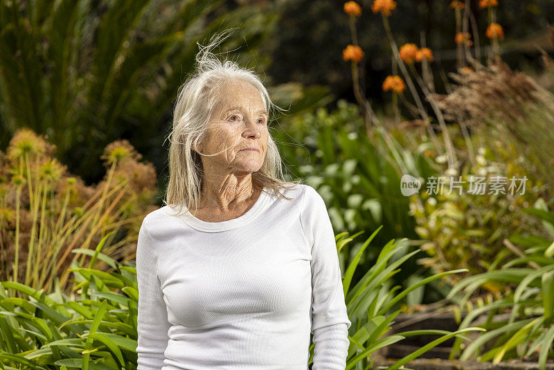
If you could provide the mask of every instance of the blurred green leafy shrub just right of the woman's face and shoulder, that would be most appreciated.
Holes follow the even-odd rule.
[[[415,153],[397,146],[394,149],[399,160],[395,160],[382,136],[370,136],[364,129],[357,106],[346,100],[339,100],[337,109],[332,112],[320,108],[315,113],[284,121],[283,130],[272,132],[272,135],[286,159],[292,179],[302,179],[316,188],[325,200],[334,230],[363,230],[362,236],[367,238],[370,233],[366,230],[384,225],[375,238],[375,245],[370,245],[361,255],[361,269],[355,281],[375,264],[380,245],[391,238],[418,238],[414,231],[415,220],[408,214],[409,197],[400,192],[400,179],[404,173],[420,176],[436,173],[423,155],[425,146]],[[402,243],[403,253],[409,251],[410,244],[409,241]],[[354,258],[361,245],[357,242],[345,245],[341,252],[343,261]],[[395,279],[406,284],[415,272],[427,274],[415,261],[407,261]],[[434,301],[442,297],[443,293],[437,292],[434,284],[426,288],[426,299]],[[413,297],[419,299],[412,303],[422,303],[424,299],[423,294]]]

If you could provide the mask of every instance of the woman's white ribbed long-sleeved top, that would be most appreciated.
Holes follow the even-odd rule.
[[[175,204],[146,215],[137,370],[306,370],[310,333],[312,369],[345,369],[351,322],[325,202],[305,184],[282,193],[292,199],[265,188],[223,222]]]

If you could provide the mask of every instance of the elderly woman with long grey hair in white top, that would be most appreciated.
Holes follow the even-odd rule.
[[[175,107],[166,206],[136,247],[137,369],[305,370],[312,333],[312,369],[344,370],[351,323],[325,203],[280,178],[260,79],[208,46],[197,62]]]

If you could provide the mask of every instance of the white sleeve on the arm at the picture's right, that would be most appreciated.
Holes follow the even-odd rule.
[[[312,245],[313,370],[344,370],[348,356],[348,319],[337,243],[325,202],[307,186],[301,223]]]

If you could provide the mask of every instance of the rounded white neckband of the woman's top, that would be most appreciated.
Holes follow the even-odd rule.
[[[235,229],[244,224],[247,224],[247,222],[250,222],[251,220],[256,218],[256,216],[266,208],[269,200],[271,200],[271,195],[269,195],[267,191],[268,188],[264,187],[253,206],[251,206],[250,209],[246,211],[246,213],[240,215],[238,218],[232,218],[231,220],[220,222],[208,222],[200,220],[188,211],[186,204],[183,204],[183,210],[186,211],[186,213],[176,216],[179,218],[179,220],[188,224],[188,226],[199,231],[218,232]]]

